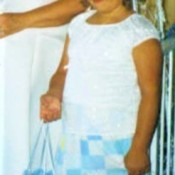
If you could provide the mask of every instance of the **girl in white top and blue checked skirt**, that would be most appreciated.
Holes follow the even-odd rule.
[[[158,33],[128,0],[89,2],[95,10],[70,23],[41,118],[62,119],[60,175],[141,175],[160,101]]]

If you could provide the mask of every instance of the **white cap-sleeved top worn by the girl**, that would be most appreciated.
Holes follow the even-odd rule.
[[[64,128],[76,134],[132,136],[140,102],[132,50],[159,39],[158,32],[139,14],[96,25],[86,21],[93,13],[79,15],[69,26]]]

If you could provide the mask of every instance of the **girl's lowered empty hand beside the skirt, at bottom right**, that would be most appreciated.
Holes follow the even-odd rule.
[[[143,175],[150,171],[150,157],[147,151],[130,149],[124,158],[129,175]]]

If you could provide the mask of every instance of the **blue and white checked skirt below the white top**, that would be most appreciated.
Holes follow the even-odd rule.
[[[127,175],[124,156],[132,138],[63,134],[56,154],[59,175]]]

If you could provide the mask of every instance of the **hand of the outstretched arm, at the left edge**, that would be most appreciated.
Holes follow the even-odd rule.
[[[0,14],[0,38],[4,38],[24,29],[22,13]]]

